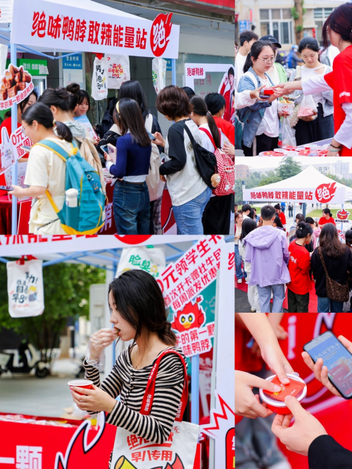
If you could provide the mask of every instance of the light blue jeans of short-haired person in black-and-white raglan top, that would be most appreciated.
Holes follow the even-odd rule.
[[[201,218],[210,196],[211,189],[207,187],[198,197],[186,204],[172,206],[177,224],[177,235],[203,235]]]

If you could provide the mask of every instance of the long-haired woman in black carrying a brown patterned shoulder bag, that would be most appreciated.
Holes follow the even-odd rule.
[[[327,296],[327,276],[320,256],[324,259],[327,273],[332,280],[341,285],[347,284],[347,271],[352,272],[352,253],[342,244],[337,228],[332,223],[323,225],[320,233],[320,246],[312,255],[312,271],[315,279],[315,293],[318,296],[318,313],[341,313],[343,301],[334,301]]]

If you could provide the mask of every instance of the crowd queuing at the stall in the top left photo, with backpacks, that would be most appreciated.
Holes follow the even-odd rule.
[[[222,118],[224,96],[210,93],[203,99],[189,87],[170,85],[162,89],[156,108],[171,123],[165,138],[156,116],[149,112],[137,80],[122,84],[102,122],[94,125],[98,139],[89,137],[87,128],[76,119],[87,115],[90,108],[89,94],[75,83],[66,88],[45,89],[39,98],[32,92],[18,106],[18,126],[23,125],[24,134],[34,145],[25,176],[29,187],[14,185],[10,194],[33,198],[31,233],[65,233],[56,213],[65,204],[66,162],[53,149],[40,144],[49,139],[68,155],[72,146],[77,147],[80,156],[99,174],[104,194],[108,173],[114,186],[113,215],[120,235],[162,233],[165,187],[170,194],[177,234],[230,234],[234,195],[215,195],[215,186],[210,188],[199,170],[191,142],[196,142],[200,151],[214,154],[219,150],[220,157],[223,154],[234,159],[234,126]],[[10,135],[11,116],[1,126]],[[108,151],[111,147],[115,149],[115,159]]]

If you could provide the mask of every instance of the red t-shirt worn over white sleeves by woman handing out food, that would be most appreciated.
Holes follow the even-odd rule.
[[[341,104],[352,103],[352,46],[334,58],[334,69],[324,75],[327,85],[334,90],[334,130],[335,134],[346,118]],[[340,156],[351,156],[351,150],[342,146]]]

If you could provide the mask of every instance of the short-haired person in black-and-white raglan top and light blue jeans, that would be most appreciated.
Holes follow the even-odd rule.
[[[183,89],[170,85],[158,94],[156,108],[166,119],[175,121],[166,140],[160,132],[154,136],[155,143],[165,148],[165,163],[160,167],[160,174],[168,182],[177,234],[203,235],[201,220],[211,189],[196,165],[191,139],[200,146],[202,139],[197,125],[189,118],[192,106]]]

